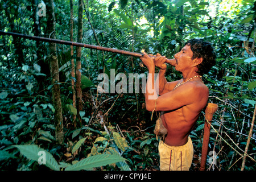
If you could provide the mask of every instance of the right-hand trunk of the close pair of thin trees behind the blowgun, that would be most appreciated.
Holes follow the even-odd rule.
[[[78,17],[78,35],[77,42],[82,42],[82,12],[84,8],[82,6],[82,0],[79,0],[79,17]],[[77,118],[79,119],[79,124],[81,126],[82,118],[79,112],[82,110],[82,89],[81,89],[81,47],[77,47],[76,55],[76,93],[77,93]]]

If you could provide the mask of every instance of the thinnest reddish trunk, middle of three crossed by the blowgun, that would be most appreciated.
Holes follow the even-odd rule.
[[[73,0],[70,0],[70,41],[73,42]],[[76,90],[75,90],[75,63],[74,63],[74,48],[71,48],[71,84],[72,84],[72,92],[73,92],[73,106],[76,107]],[[74,121],[76,120],[76,115],[73,114]]]

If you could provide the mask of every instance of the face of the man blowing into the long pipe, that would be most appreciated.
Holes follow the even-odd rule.
[[[193,52],[191,51],[190,46],[184,46],[180,52],[176,53],[174,56],[176,59],[175,69],[180,72],[184,72],[187,69],[192,67],[192,58]]]

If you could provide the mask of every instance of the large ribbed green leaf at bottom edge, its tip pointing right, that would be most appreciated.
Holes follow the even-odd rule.
[[[82,159],[80,160],[80,162],[65,168],[65,171],[79,171],[82,169],[84,170],[92,169],[94,167],[106,166],[108,164],[121,162],[123,160],[126,160],[126,159],[122,158],[119,155],[99,154],[99,155],[90,156],[89,158],[86,158],[86,159]]]

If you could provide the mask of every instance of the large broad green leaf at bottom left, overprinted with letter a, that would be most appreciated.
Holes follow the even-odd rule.
[[[45,165],[48,168],[51,168],[55,171],[60,171],[59,164],[53,158],[52,154],[46,150],[43,150],[43,148],[39,148],[35,144],[15,145],[15,147],[17,147],[19,149],[20,153],[22,155],[26,156],[26,158],[35,160],[38,162],[39,162],[40,158],[44,158],[45,159],[44,161],[46,162]]]

